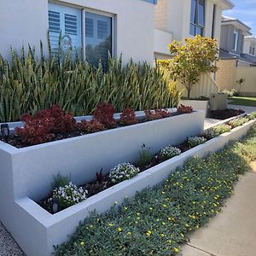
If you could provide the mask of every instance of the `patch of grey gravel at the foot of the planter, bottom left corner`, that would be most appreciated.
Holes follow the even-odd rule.
[[[0,222],[0,256],[26,256]]]

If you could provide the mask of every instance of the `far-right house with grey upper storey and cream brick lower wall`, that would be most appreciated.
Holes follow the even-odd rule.
[[[217,83],[219,90],[238,90],[256,96],[255,38],[241,20],[223,16]],[[243,81],[239,83],[239,81]]]

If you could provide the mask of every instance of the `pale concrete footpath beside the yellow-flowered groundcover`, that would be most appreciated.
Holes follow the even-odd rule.
[[[256,256],[256,162],[223,211],[189,239],[183,256]]]

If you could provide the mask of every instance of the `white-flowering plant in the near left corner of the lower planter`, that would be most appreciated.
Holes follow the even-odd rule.
[[[73,183],[68,183],[64,187],[59,187],[53,190],[52,197],[49,198],[49,204],[52,201],[58,201],[58,205],[61,209],[71,207],[81,201],[84,201],[87,197],[88,191],[82,187],[77,187]]]

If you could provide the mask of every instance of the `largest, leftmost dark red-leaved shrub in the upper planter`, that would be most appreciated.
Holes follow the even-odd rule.
[[[26,145],[47,143],[55,137],[55,133],[73,131],[76,125],[71,113],[64,113],[57,105],[44,109],[34,115],[24,114],[21,117],[23,128],[16,128],[16,134]]]

